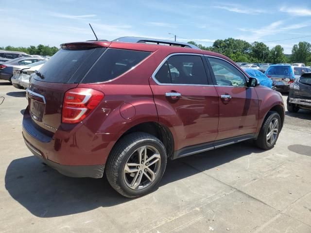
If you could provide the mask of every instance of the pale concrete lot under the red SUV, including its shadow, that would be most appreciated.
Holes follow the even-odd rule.
[[[311,112],[286,112],[272,150],[242,142],[169,161],[160,187],[130,200],[41,164],[21,135],[25,91],[0,81],[1,96],[1,233],[311,233]]]

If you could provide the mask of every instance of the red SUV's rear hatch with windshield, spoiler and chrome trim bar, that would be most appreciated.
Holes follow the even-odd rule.
[[[60,126],[66,91],[78,86],[106,50],[103,46],[109,46],[109,43],[98,44],[64,44],[33,76],[27,97],[29,113],[37,129],[54,133]]]

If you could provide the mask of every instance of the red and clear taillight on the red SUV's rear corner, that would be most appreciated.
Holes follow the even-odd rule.
[[[104,99],[104,93],[89,88],[74,88],[65,93],[62,122],[75,124],[86,118]]]

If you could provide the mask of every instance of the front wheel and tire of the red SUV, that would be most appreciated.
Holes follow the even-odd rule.
[[[271,126],[274,126],[276,120],[277,120],[277,125],[275,126],[275,129],[277,129],[277,133],[276,133],[276,130],[273,129],[274,133],[270,133],[270,137],[268,138],[268,132],[272,131]],[[256,146],[258,146],[259,148],[263,150],[272,149],[274,145],[276,144],[280,130],[281,130],[280,116],[278,115],[277,112],[269,111],[261,126],[258,138],[255,140]]]

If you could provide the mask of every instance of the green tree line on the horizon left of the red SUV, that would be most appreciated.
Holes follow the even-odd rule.
[[[18,51],[18,52],[26,52],[30,55],[42,55],[42,56],[52,56],[56,53],[59,49],[55,46],[50,47],[48,45],[38,45],[30,47],[13,47],[13,46],[6,46],[0,47],[0,50],[7,50],[7,51]]]

